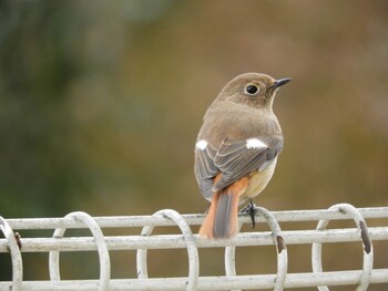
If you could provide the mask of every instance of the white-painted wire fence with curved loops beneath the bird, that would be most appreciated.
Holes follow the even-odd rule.
[[[268,211],[257,208],[256,221],[266,222],[270,231],[242,232],[233,239],[207,240],[194,235],[191,226],[202,222],[203,215],[180,215],[165,209],[153,216],[91,217],[71,212],[64,218],[3,219],[0,217],[0,252],[9,252],[12,281],[1,281],[0,290],[247,290],[354,284],[357,291],[372,283],[388,283],[386,269],[374,269],[374,240],[388,241],[388,220],[381,227],[367,227],[366,219],[388,218],[388,207],[359,208],[340,204],[327,210]],[[353,219],[355,228],[326,229],[330,220]],[[316,229],[282,231],[279,222],[317,221]],[[249,224],[247,216],[241,225]],[[152,235],[154,227],[177,226],[182,235]],[[103,228],[142,227],[139,236],[104,236]],[[67,229],[88,228],[92,237],[63,237]],[[51,238],[20,238],[16,230],[53,229]],[[360,241],[363,269],[327,272],[321,267],[321,248],[326,242]],[[312,245],[312,272],[287,272],[286,245]],[[236,247],[269,246],[277,250],[277,272],[274,274],[236,276]],[[200,277],[198,248],[225,247],[225,276]],[[188,274],[183,278],[149,278],[149,249],[187,249]],[[96,250],[100,260],[99,280],[61,280],[60,252]],[[111,250],[135,250],[137,278],[111,279]],[[48,281],[23,281],[23,252],[49,252]]]

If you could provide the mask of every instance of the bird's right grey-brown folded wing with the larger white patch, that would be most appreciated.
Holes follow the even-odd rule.
[[[283,137],[276,135],[247,141],[225,138],[213,159],[222,175],[212,190],[217,191],[254,170],[265,169],[266,162],[275,158],[282,149]]]

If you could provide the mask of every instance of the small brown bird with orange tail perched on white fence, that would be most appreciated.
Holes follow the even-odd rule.
[[[278,89],[292,79],[244,73],[229,81],[207,108],[194,149],[194,174],[210,207],[200,237],[238,233],[238,207],[254,220],[252,198],[270,180],[284,141],[273,112]]]

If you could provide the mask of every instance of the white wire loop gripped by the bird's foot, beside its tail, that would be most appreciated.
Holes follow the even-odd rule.
[[[282,236],[282,229],[274,215],[267,209],[263,207],[255,207],[255,211],[256,215],[261,215],[266,220],[270,231],[273,232],[273,238],[277,250],[277,273],[274,291],[280,291],[284,289],[288,267],[287,248]],[[236,276],[234,246],[228,246],[225,248],[225,272],[226,276]]]

